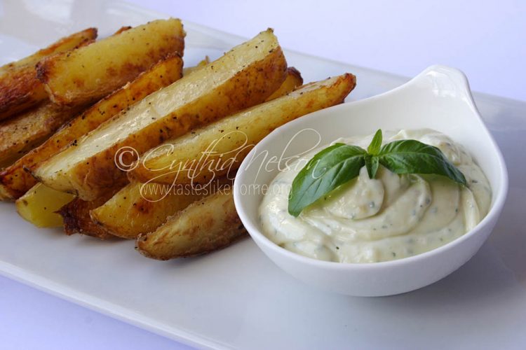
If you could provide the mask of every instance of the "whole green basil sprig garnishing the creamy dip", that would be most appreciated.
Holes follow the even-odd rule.
[[[440,149],[416,140],[393,141],[382,146],[378,130],[367,151],[358,146],[334,144],[314,155],[292,181],[288,212],[298,216],[305,207],[351,181],[365,165],[375,179],[379,165],[396,174],[436,174],[466,186],[466,178]]]

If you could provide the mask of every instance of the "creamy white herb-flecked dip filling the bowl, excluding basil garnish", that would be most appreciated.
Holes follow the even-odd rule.
[[[373,135],[338,139],[367,149]],[[490,209],[492,190],[464,147],[434,130],[384,132],[384,144],[415,139],[440,151],[466,177],[468,187],[435,175],[398,175],[380,165],[376,179],[358,178],[288,214],[290,186],[319,148],[280,172],[259,207],[262,232],[289,251],[319,260],[380,262],[443,246],[475,227]]]

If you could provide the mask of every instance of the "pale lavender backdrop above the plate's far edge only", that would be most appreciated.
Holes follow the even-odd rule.
[[[411,77],[431,64],[466,73],[474,91],[526,100],[526,1],[132,0],[208,27]]]

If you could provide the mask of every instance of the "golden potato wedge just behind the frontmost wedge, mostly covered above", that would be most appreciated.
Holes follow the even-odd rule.
[[[207,195],[182,186],[132,182],[110,200],[90,211],[91,218],[117,237],[135,239],[154,231],[168,216]]]

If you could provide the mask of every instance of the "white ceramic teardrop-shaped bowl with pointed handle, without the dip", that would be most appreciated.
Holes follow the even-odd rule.
[[[410,258],[351,264],[314,260],[292,253],[274,244],[259,230],[261,189],[278,172],[277,162],[271,161],[273,156],[286,159],[308,150],[317,141],[323,146],[338,137],[372,134],[378,128],[424,127],[443,132],[466,146],[492,186],[489,214],[466,235]],[[304,131],[298,133],[300,130]],[[259,158],[253,159],[255,155]],[[266,160],[262,160],[264,155]],[[264,167],[260,169],[262,164]],[[238,170],[234,201],[241,221],[257,246],[285,272],[325,290],[347,295],[380,296],[422,288],[464,265],[492,232],[507,190],[504,159],[480,118],[466,76],[457,69],[431,66],[394,90],[311,113],[271,132],[252,149]]]

